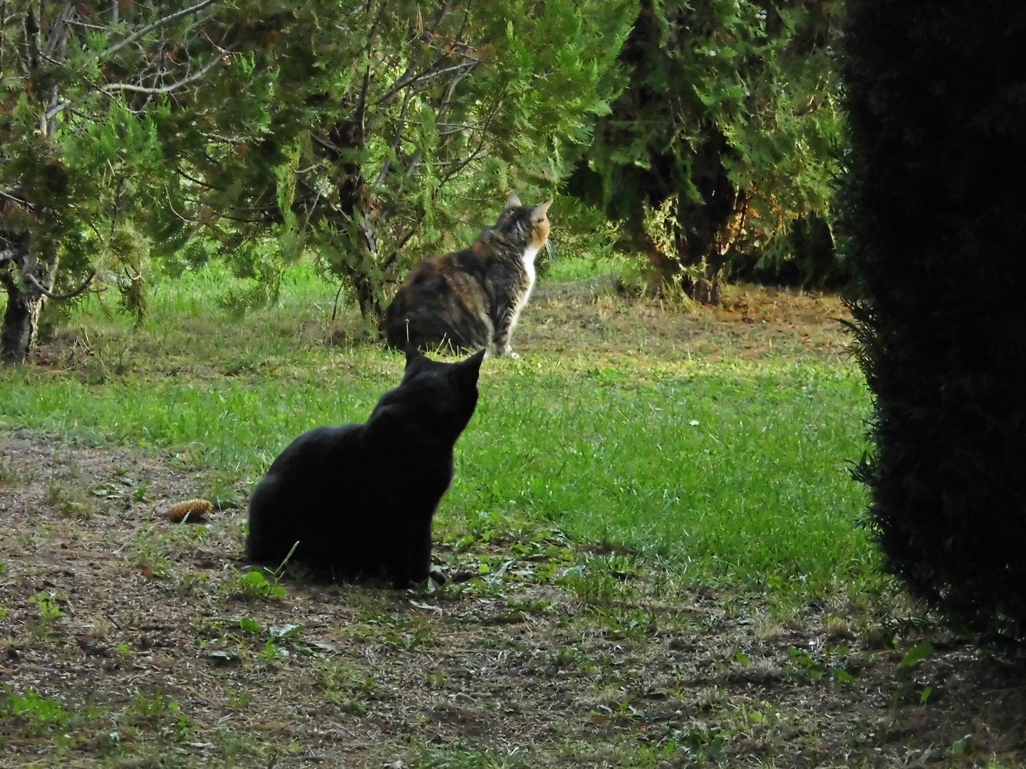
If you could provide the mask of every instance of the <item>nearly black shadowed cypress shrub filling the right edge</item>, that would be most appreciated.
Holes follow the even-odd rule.
[[[1026,638],[1026,6],[855,0],[844,195],[860,468],[889,570],[984,637]]]

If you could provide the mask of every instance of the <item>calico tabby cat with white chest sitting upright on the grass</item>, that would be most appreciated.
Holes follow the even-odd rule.
[[[551,204],[524,206],[513,195],[470,248],[418,265],[389,305],[388,343],[517,358],[510,337],[535,287],[535,256],[549,238]]]

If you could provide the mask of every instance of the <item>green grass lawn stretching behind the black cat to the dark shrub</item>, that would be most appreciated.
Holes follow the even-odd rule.
[[[139,331],[83,306],[60,338],[85,329],[93,355],[63,372],[0,372],[2,423],[255,482],[297,435],[363,420],[398,381],[400,356],[325,343],[334,292],[309,271],[241,321],[214,300],[230,285],[218,270],[159,284]],[[443,534],[526,522],[751,588],[826,590],[874,563],[849,474],[869,411],[851,364],[613,365],[582,349],[487,361],[480,390]]]

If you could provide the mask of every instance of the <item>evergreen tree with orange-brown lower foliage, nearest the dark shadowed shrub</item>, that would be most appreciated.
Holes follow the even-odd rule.
[[[570,191],[627,222],[652,290],[719,301],[733,254],[825,214],[839,135],[837,2],[643,0],[629,84]]]

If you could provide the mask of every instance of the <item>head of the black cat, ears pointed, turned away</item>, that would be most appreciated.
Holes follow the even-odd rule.
[[[382,396],[370,419],[386,415],[403,431],[431,431],[456,440],[477,406],[477,376],[484,351],[459,363],[441,363],[406,346],[406,370],[395,390]]]

